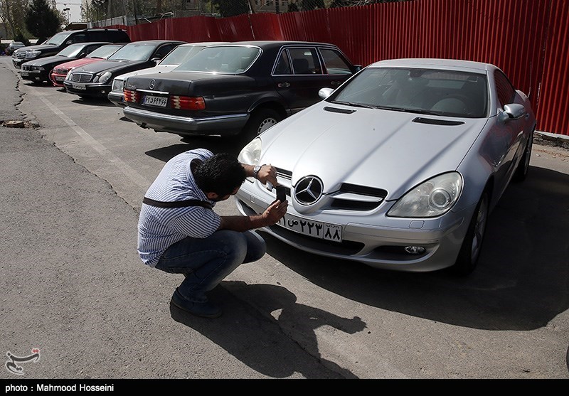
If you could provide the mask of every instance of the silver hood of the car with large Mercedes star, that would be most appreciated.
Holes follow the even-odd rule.
[[[456,170],[486,121],[319,102],[261,135],[260,164],[292,171],[293,185],[315,175],[326,193],[351,183],[383,188],[386,199],[395,200],[432,176]]]

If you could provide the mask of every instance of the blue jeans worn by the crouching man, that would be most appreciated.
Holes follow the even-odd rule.
[[[206,291],[245,262],[265,255],[265,240],[256,232],[219,230],[206,238],[186,237],[171,245],[160,257],[156,268],[186,279],[179,293],[190,301],[208,301]]]

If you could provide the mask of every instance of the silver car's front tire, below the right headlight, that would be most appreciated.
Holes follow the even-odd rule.
[[[482,242],[484,242],[486,225],[488,224],[489,203],[489,193],[485,190],[470,220],[467,235],[464,236],[462,241],[457,261],[452,266],[452,271],[456,274],[468,275],[474,271],[478,263]]]

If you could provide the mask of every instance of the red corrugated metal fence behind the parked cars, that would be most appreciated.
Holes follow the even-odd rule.
[[[333,43],[354,62],[452,58],[494,63],[531,99],[537,129],[569,135],[569,0],[415,0],[122,26],[133,41]]]

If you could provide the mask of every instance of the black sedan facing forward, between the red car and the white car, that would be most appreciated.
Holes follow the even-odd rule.
[[[112,79],[117,75],[156,66],[173,48],[185,41],[148,40],[128,43],[107,60],[71,70],[63,85],[69,93],[80,97],[107,97]]]

